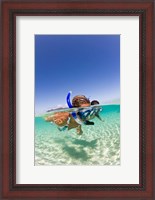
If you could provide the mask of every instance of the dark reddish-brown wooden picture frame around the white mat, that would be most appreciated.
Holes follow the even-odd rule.
[[[2,0],[1,31],[1,199],[155,199],[153,186],[153,0]],[[140,17],[139,184],[16,184],[16,16],[120,15]],[[155,170],[154,170],[155,171]]]

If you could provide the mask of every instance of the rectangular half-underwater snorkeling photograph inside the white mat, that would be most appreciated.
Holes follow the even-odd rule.
[[[120,165],[120,35],[35,35],[35,166]]]

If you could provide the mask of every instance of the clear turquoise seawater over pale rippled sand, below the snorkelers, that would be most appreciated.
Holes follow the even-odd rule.
[[[94,125],[59,131],[56,125],[35,117],[35,165],[119,165],[120,105],[104,105]]]

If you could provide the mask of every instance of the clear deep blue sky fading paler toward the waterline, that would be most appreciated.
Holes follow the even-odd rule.
[[[35,112],[65,105],[68,91],[120,98],[119,35],[35,35]]]

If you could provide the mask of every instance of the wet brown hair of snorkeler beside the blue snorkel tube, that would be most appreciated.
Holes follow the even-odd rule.
[[[90,101],[84,95],[77,95],[72,99],[73,107],[80,107],[82,104],[90,104]]]

